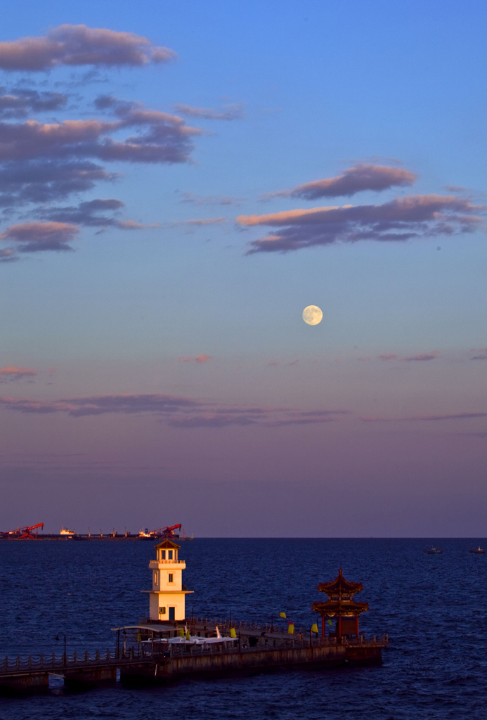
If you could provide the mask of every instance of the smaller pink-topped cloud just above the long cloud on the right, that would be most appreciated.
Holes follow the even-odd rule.
[[[347,168],[336,177],[314,180],[304,185],[298,185],[291,190],[266,193],[261,199],[300,197],[305,200],[316,200],[319,197],[343,197],[355,195],[364,190],[379,192],[391,187],[412,185],[415,180],[416,175],[404,168],[360,163],[352,168]]]

